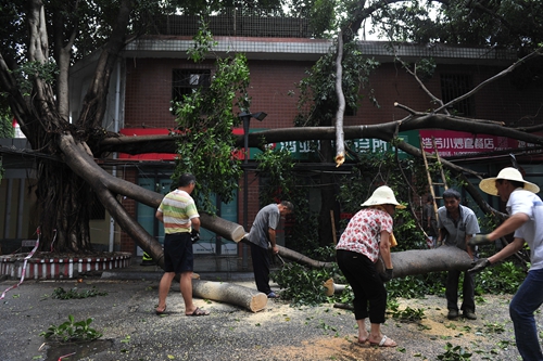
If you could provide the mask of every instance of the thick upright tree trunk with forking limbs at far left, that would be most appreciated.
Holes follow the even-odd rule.
[[[54,93],[51,82],[41,76],[29,76],[28,81],[34,81],[34,87],[30,96],[23,95],[13,75],[16,72],[11,72],[1,56],[2,77],[0,80],[2,90],[10,94],[9,101],[13,115],[33,149],[47,154],[47,157],[37,162],[40,249],[50,250],[54,240],[52,246],[55,252],[85,253],[91,250],[92,247],[89,232],[91,188],[85,182],[86,178],[79,178],[73,168],[54,162],[54,158],[62,153],[59,151],[59,142],[62,142],[66,134],[74,136],[76,138],[74,143],[78,144],[100,138],[97,137],[100,132],[96,130],[102,125],[105,113],[113,65],[125,44],[131,0],[119,2],[115,23],[112,24],[113,31],[108,43],[102,47],[94,78],[85,98],[81,117],[75,119],[75,125],[70,124],[67,118],[67,79],[71,49],[77,34],[77,26],[71,30],[63,28],[61,26],[63,24],[62,12],[59,12],[54,4],[51,7],[55,25],[52,27],[54,56],[61,73],[56,78],[58,92]],[[48,21],[51,20],[47,17],[49,14],[46,13],[41,0],[28,1],[27,10],[29,29],[27,57],[45,66],[50,62]]]

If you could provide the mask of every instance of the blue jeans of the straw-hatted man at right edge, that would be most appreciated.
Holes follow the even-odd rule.
[[[533,312],[543,304],[543,269],[528,272],[509,305],[515,340],[523,361],[543,361]]]

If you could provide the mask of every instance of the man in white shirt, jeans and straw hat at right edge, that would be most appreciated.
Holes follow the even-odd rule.
[[[473,262],[469,272],[478,272],[492,263],[530,247],[531,267],[527,278],[509,304],[509,314],[515,326],[517,348],[525,361],[542,361],[543,353],[538,340],[533,313],[543,304],[543,202],[535,195],[540,188],[526,181],[515,168],[504,168],[497,177],[483,179],[479,188],[507,202],[509,214],[498,228],[489,234],[478,234],[471,245],[490,244],[514,232],[514,240],[492,257]]]

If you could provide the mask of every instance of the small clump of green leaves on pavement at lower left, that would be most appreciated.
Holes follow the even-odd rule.
[[[72,314],[68,315],[68,321],[55,326],[50,325],[47,331],[41,332],[39,335],[45,338],[52,338],[62,343],[67,341],[91,341],[102,337],[102,334],[94,328],[90,327],[93,319],[87,319],[75,322]]]

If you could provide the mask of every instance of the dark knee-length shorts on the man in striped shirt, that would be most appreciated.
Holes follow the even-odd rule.
[[[164,237],[164,271],[192,272],[194,256],[190,233],[166,234]]]

